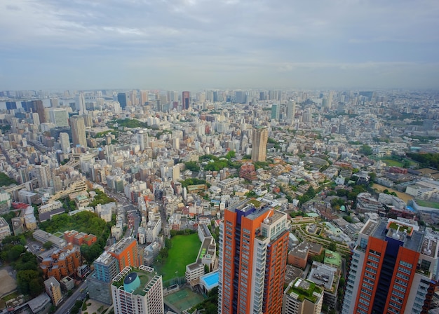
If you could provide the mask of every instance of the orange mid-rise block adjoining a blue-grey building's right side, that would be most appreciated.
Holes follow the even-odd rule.
[[[135,238],[123,238],[118,243],[112,245],[108,250],[119,263],[119,271],[126,266],[137,267],[139,262],[139,254],[137,252],[137,240]]]

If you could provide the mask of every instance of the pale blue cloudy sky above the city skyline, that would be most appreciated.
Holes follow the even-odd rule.
[[[0,90],[439,88],[438,0],[1,0]]]

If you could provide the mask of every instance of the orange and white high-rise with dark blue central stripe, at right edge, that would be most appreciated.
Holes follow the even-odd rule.
[[[428,313],[438,240],[395,219],[369,220],[353,249],[342,314]]]

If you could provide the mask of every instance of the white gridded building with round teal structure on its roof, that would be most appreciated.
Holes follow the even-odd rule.
[[[123,268],[113,279],[114,314],[162,314],[163,282],[154,268]]]

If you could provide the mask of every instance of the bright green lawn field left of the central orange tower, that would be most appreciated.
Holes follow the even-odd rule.
[[[186,265],[194,263],[201,245],[198,233],[175,235],[171,241],[173,242],[173,247],[169,250],[166,264],[156,267],[158,273],[163,275],[163,282],[175,277],[184,277]],[[178,273],[175,273],[176,271]]]

